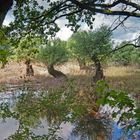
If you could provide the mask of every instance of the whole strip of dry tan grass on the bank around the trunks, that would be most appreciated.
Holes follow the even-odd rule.
[[[35,88],[47,89],[49,87],[64,87],[67,80],[60,80],[51,77],[44,65],[33,64],[35,71],[34,77],[24,77],[24,63],[11,62],[4,69],[0,70],[0,84],[23,84],[29,83]],[[75,86],[83,93],[91,93],[94,91],[92,77],[95,74],[94,69],[80,70],[78,63],[68,62],[56,69],[62,71],[73,80]],[[104,69],[105,79],[112,88],[117,90],[125,90],[128,93],[136,93],[140,95],[140,69],[138,67],[108,67]],[[92,88],[92,91],[91,91]],[[81,91],[83,90],[83,91]]]

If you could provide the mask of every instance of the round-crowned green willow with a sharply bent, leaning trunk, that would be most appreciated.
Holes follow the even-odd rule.
[[[60,71],[54,69],[54,65],[62,64],[68,60],[68,53],[65,48],[66,42],[60,39],[50,40],[39,49],[37,58],[48,67],[48,72],[55,78],[66,77]]]

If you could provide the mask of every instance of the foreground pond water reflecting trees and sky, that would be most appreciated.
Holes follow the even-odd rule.
[[[18,136],[23,140],[32,139],[45,140],[140,140],[139,131],[137,135],[123,133],[123,130],[115,122],[107,119],[95,119],[89,116],[75,117],[67,114],[68,120],[64,122],[65,107],[52,107],[55,102],[52,96],[48,100],[48,92],[28,91],[27,89],[14,89],[0,94],[1,108],[0,140],[12,136],[14,140]],[[50,102],[53,102],[52,104]],[[67,104],[66,104],[67,105]],[[50,107],[47,109],[47,107]],[[52,108],[51,108],[52,107]],[[66,106],[67,107],[67,106]],[[9,110],[8,110],[9,109]],[[4,110],[4,111],[2,111]],[[12,114],[12,113],[13,114]],[[11,114],[10,114],[11,113]],[[4,118],[4,119],[2,119]],[[63,119],[62,119],[63,118]],[[25,131],[26,130],[26,131]],[[26,136],[25,136],[26,135]]]

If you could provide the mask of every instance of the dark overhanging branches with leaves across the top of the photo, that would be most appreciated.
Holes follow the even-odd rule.
[[[4,1],[4,0],[2,0]],[[73,30],[77,30],[81,22],[85,22],[92,28],[94,15],[140,17],[140,3],[128,0],[15,0],[13,28],[21,31],[36,32],[39,34],[55,34],[59,30],[56,20],[66,18]],[[12,0],[7,3],[12,4]],[[42,4],[43,3],[43,4]],[[4,7],[4,3],[1,5]],[[8,7],[8,6],[7,6]],[[119,7],[119,8],[116,8]],[[4,11],[4,10],[3,10]],[[4,12],[1,13],[4,13]],[[118,18],[118,20],[120,20]],[[124,21],[122,20],[122,22]],[[16,32],[17,33],[17,32]],[[24,34],[25,32],[23,32]]]

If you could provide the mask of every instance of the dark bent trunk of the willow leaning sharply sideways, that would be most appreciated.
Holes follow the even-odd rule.
[[[53,64],[48,65],[48,72],[50,75],[52,75],[55,78],[67,78],[64,73],[55,70]]]

